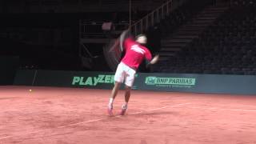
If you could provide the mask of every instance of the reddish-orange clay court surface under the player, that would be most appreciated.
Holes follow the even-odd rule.
[[[0,143],[256,143],[255,96],[133,91],[127,114],[109,117],[109,95],[110,90],[2,86]],[[123,98],[120,91],[116,114]]]

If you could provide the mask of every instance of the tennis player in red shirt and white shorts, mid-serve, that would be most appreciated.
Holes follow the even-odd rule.
[[[128,33],[124,31],[122,34]],[[110,95],[110,102],[108,105],[108,114],[113,116],[113,103],[114,98],[118,94],[118,90],[122,83],[124,82],[125,86],[125,103],[122,105],[122,110],[120,115],[126,114],[127,105],[130,99],[130,90],[134,83],[134,78],[138,66],[142,63],[143,59],[146,59],[147,66],[154,64],[158,61],[159,55],[154,56],[150,53],[150,50],[146,48],[147,38],[144,34],[139,34],[135,40],[132,37],[125,38],[122,42],[123,46],[121,50],[124,50],[125,55],[122,58],[122,61],[118,64],[118,68],[114,75],[114,88]],[[121,45],[122,45],[121,44]]]

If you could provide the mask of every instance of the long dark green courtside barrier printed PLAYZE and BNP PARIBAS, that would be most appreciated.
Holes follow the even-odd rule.
[[[114,73],[18,70],[14,85],[112,89]],[[133,89],[211,94],[256,94],[255,86],[256,76],[254,75],[138,73]]]

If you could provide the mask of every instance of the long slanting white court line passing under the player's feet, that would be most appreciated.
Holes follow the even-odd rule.
[[[188,105],[188,104],[190,104],[190,103],[181,103],[181,104],[177,104],[177,105],[163,106],[163,107],[158,107],[158,108],[155,108],[155,109],[130,113],[130,114],[127,114],[127,115],[142,114],[143,112],[150,112],[150,111],[154,111],[154,110],[166,109],[168,107],[182,106],[182,105]],[[122,117],[122,115],[115,115],[113,118],[119,118],[119,117]],[[78,126],[78,125],[81,125],[81,124],[84,124],[84,123],[98,122],[98,121],[102,121],[102,120],[106,120],[106,119],[108,119],[108,118],[98,118],[98,119],[92,119],[92,120],[85,121],[85,122],[71,123],[71,124],[66,125],[66,126],[58,126],[57,129],[61,129],[61,128],[69,127],[69,126]],[[5,136],[5,137],[0,137],[0,140],[5,139],[5,138],[18,137],[18,136],[22,136],[22,135],[26,135],[26,134],[33,134],[33,133],[37,133],[37,132],[41,132],[41,131],[44,131],[44,130],[35,130],[35,131],[31,130],[31,131],[28,131],[27,133],[22,132],[22,134],[14,134],[14,135],[9,135],[9,136]]]

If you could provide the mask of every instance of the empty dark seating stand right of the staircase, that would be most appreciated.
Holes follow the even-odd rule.
[[[256,5],[237,0],[198,38],[158,72],[188,74],[256,74]],[[244,3],[244,4],[242,4]]]

